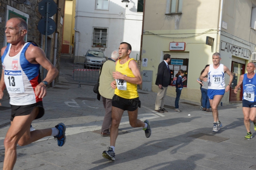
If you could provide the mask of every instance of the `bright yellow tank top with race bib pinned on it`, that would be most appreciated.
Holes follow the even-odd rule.
[[[129,68],[129,62],[134,60],[133,58],[128,60],[124,64],[120,64],[120,60],[116,62],[116,71],[122,73],[123,75],[129,77],[135,77],[132,73],[132,70]],[[136,61],[136,60],[135,60]],[[137,92],[137,84],[130,83],[125,80],[117,80],[116,79],[116,89],[115,94],[119,97],[123,97],[125,99],[134,99],[139,97]]]

